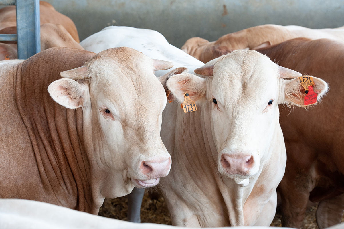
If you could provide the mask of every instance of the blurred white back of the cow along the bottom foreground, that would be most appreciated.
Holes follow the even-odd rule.
[[[342,225],[343,226],[343,225]],[[25,199],[0,199],[1,229],[183,229],[155,223],[132,223]],[[210,229],[210,228],[208,228]],[[225,228],[218,228],[225,229]],[[229,229],[229,228],[227,228]],[[234,227],[231,229],[287,229],[281,227]],[[289,228],[291,229],[291,228]],[[335,229],[335,228],[331,228]],[[338,228],[339,229],[339,228]]]

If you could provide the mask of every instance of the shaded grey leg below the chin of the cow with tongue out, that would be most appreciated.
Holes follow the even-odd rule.
[[[141,204],[144,194],[144,188],[136,188],[128,195],[128,221],[141,222]]]

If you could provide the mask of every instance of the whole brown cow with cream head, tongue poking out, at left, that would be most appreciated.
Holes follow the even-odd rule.
[[[171,157],[153,72],[172,66],[128,47],[0,62],[0,198],[97,214],[105,197],[157,185]]]

